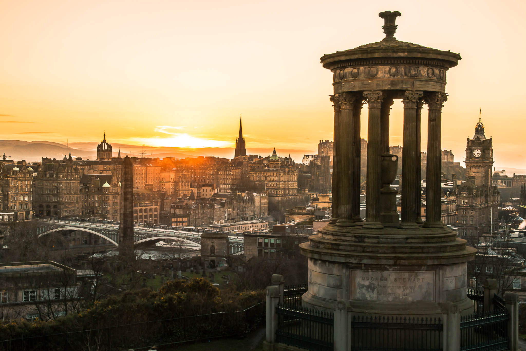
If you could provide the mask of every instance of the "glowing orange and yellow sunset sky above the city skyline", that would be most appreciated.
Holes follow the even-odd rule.
[[[233,147],[242,114],[247,148],[316,152],[333,134],[332,75],[319,57],[380,41],[378,13],[397,10],[399,40],[462,56],[448,72],[442,147],[463,161],[482,108],[495,166],[526,168],[525,9],[523,1],[5,0],[0,139],[98,142],[105,129],[112,143]],[[401,114],[397,101],[391,145],[401,145]],[[426,133],[423,123],[422,146]]]

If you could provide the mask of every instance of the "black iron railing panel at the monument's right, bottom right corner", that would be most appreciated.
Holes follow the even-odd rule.
[[[506,309],[460,317],[460,349],[507,350],[509,317]]]

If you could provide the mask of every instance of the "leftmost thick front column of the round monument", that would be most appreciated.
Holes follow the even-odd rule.
[[[335,119],[335,139],[338,138],[338,162],[334,164],[335,156],[333,155],[332,172],[338,173],[336,177],[338,183],[336,185],[338,193],[338,207],[337,207],[337,223],[341,226],[355,225],[352,220],[352,198],[353,188],[351,183],[352,167],[352,147],[353,137],[352,133],[354,125],[354,103],[356,101],[356,93],[341,93],[336,94],[333,99],[339,105],[338,120]],[[335,104],[336,104],[335,103]],[[332,184],[334,187],[334,183]],[[335,192],[333,192],[335,193]],[[334,208],[334,204],[332,205]]]

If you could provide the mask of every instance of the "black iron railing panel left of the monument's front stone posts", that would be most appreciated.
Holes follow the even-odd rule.
[[[333,315],[330,312],[278,305],[276,342],[312,351],[329,351],[333,345]]]

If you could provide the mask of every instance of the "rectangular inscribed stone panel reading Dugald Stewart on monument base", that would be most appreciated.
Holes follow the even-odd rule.
[[[350,299],[379,302],[434,301],[434,272],[351,270]]]

